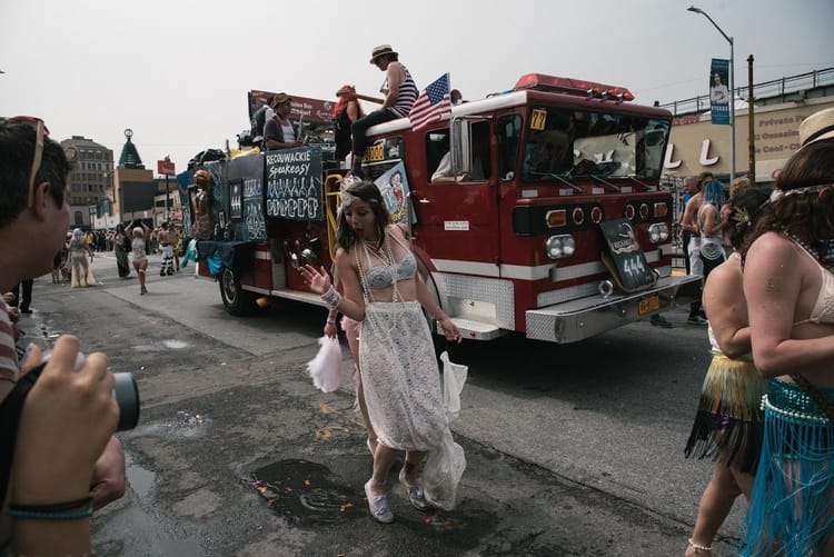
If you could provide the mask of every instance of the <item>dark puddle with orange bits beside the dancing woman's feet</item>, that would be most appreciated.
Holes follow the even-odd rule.
[[[335,523],[367,514],[363,494],[320,464],[280,460],[252,473],[252,485],[289,524]]]

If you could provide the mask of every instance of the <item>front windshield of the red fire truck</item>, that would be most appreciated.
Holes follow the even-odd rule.
[[[525,130],[522,179],[656,179],[668,133],[664,119],[534,106]]]

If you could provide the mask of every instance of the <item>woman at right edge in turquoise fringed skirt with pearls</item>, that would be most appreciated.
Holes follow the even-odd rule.
[[[753,360],[773,378],[744,556],[834,555],[834,109],[800,142],[742,251]]]

